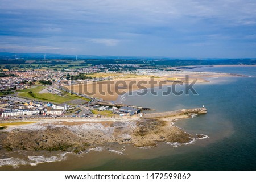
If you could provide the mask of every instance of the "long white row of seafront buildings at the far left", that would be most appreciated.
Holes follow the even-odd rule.
[[[41,111],[39,109],[12,109],[12,110],[4,110],[2,113],[2,117],[11,117],[11,116],[20,116],[20,115],[36,115],[40,113]]]

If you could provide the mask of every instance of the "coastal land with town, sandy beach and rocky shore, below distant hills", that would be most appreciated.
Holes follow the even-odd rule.
[[[11,60],[22,61],[26,64],[0,66],[0,150],[5,154],[0,158],[5,161],[9,156],[2,162],[6,167],[15,151],[83,155],[104,146],[119,155],[126,146],[147,148],[166,143],[179,147],[207,139],[204,132],[188,133],[176,126],[180,119],[207,114],[204,103],[158,110],[152,104],[127,102],[126,98],[158,94],[163,92],[162,86],[168,90],[175,85],[207,85],[217,77],[246,77],[196,71],[194,68],[207,67],[200,65],[155,66],[160,60],[122,60],[122,64],[120,60],[41,59],[34,64]]]

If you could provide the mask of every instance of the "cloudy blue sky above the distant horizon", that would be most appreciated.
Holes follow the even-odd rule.
[[[256,57],[256,1],[0,0],[0,52]]]

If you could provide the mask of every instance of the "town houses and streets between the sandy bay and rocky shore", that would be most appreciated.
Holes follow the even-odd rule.
[[[98,104],[102,101],[101,98],[90,97],[64,89],[64,86],[76,84],[79,81],[97,82],[110,79],[109,77],[86,77],[85,79],[72,80],[71,77],[96,72],[106,74],[106,71],[102,72],[102,69],[122,69],[123,67],[134,68],[137,66],[128,64],[104,65],[102,67],[77,69],[76,71],[2,69],[0,77],[0,91],[2,93],[2,96],[0,96],[0,119],[1,121],[8,121],[49,117],[123,117],[139,114],[140,109],[133,106],[115,106],[113,105],[114,102],[110,102],[112,106],[106,104],[107,102],[102,105]],[[107,71],[107,73],[113,75],[116,72]],[[126,75],[127,72],[122,74]],[[35,93],[36,89],[39,89],[38,93]],[[47,94],[54,97],[53,100],[47,101],[47,98],[36,97],[35,94],[37,96]],[[55,97],[65,98],[67,95],[70,98],[66,102],[61,102],[61,99],[55,101]]]

